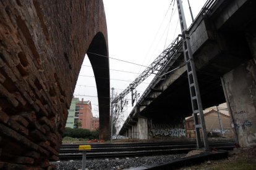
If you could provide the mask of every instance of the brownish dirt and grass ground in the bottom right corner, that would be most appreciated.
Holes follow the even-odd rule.
[[[183,167],[179,170],[194,169],[256,169],[256,146],[253,148],[234,148],[223,160],[206,161],[194,166]]]

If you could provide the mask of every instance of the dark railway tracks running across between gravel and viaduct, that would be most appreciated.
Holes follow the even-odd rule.
[[[234,140],[209,141],[212,150],[231,150],[235,147]],[[192,142],[148,142],[126,144],[92,144],[87,152],[87,159],[121,158],[134,156],[166,155],[188,153],[196,148]],[[59,160],[80,160],[82,152],[79,145],[62,145]]]

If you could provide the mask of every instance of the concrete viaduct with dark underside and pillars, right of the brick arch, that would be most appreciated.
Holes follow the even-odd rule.
[[[256,145],[256,1],[210,1],[190,26],[203,108],[228,103],[239,145]],[[192,115],[182,46],[126,119],[119,134],[152,138],[151,129],[184,129]],[[182,133],[182,131],[181,131]]]

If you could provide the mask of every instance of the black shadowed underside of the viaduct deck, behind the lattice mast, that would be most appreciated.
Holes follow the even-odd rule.
[[[203,108],[225,102],[219,77],[198,73]],[[214,99],[214,100],[213,100]],[[171,86],[163,91],[150,105],[140,112],[147,118],[162,119],[168,123],[182,123],[192,110],[187,73],[183,73]]]

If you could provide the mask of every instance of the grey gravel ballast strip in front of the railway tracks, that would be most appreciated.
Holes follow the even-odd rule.
[[[175,160],[177,158],[181,158],[186,154],[179,155],[161,155],[161,156],[144,156],[144,157],[133,157],[133,158],[115,158],[115,159],[95,159],[95,160],[87,160],[86,168],[88,169],[129,169],[129,168],[137,168],[137,167],[149,167],[156,166],[164,163],[168,163],[169,161]],[[57,169],[81,169],[82,168],[82,160],[74,160],[74,161],[58,161],[52,162],[51,164],[55,164]]]

